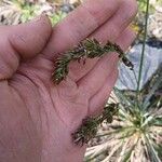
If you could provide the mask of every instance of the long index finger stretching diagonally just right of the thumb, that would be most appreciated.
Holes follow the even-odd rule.
[[[43,54],[54,59],[58,53],[78,44],[108,21],[120,3],[120,0],[99,0],[99,3],[98,0],[86,0],[54,27],[54,32]]]

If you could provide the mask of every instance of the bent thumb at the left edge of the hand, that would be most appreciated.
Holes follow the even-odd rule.
[[[17,26],[0,27],[0,80],[16,71],[19,60],[42,51],[52,31],[45,15]]]

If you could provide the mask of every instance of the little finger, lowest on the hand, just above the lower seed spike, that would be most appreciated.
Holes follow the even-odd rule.
[[[116,84],[118,78],[118,69],[108,76],[106,82],[102,89],[90,99],[89,116],[98,114],[103,111],[104,106],[106,105],[108,97],[112,91],[112,87]]]

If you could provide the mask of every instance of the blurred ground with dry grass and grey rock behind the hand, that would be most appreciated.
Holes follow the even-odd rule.
[[[99,0],[98,0],[99,1]],[[162,162],[162,0],[137,0],[132,28],[137,38],[127,51],[130,71],[119,66],[109,103],[119,107],[89,144],[84,161]],[[82,0],[0,0],[0,25],[17,25],[45,12],[53,26]]]

